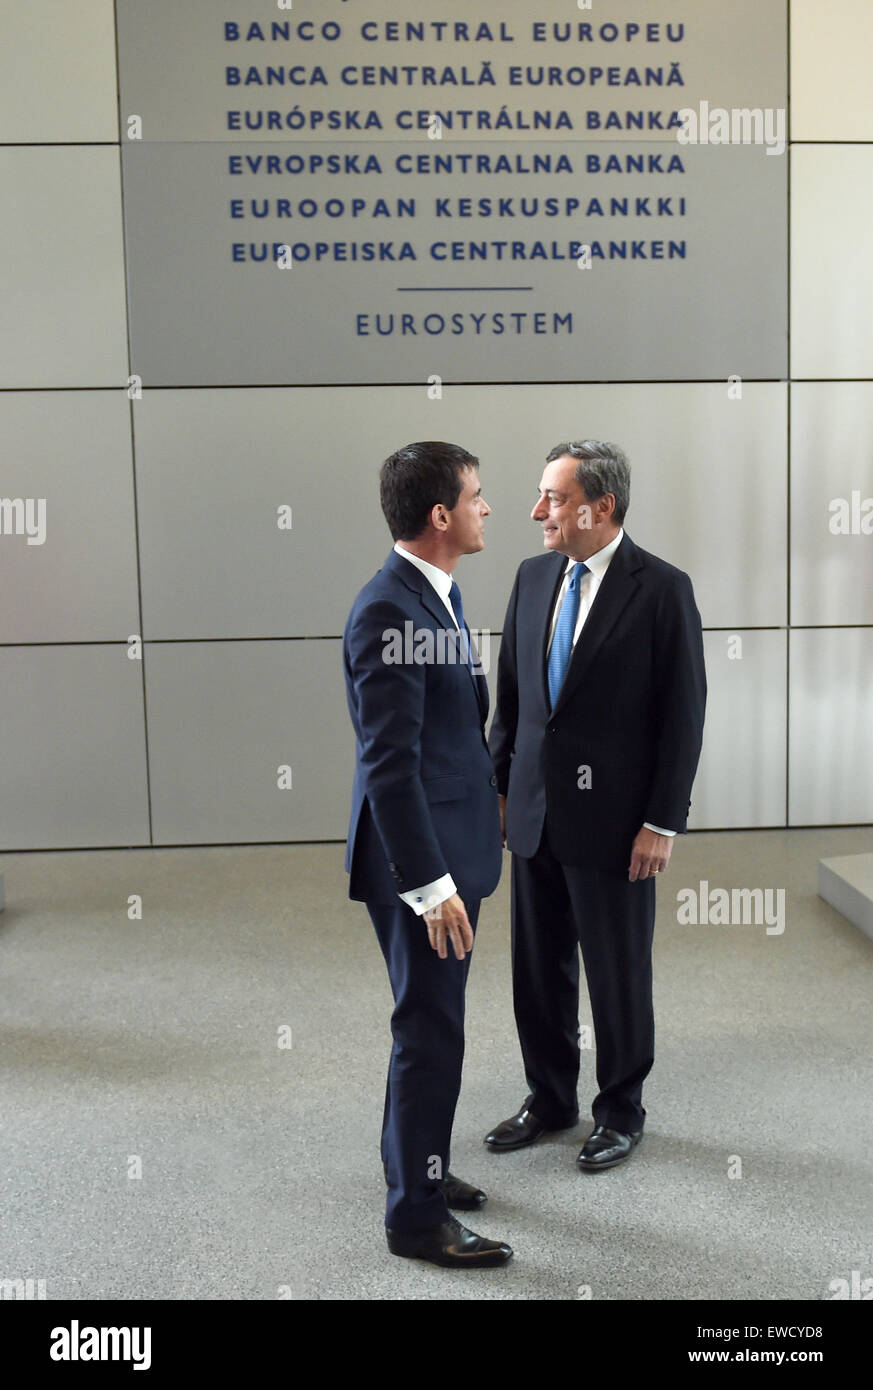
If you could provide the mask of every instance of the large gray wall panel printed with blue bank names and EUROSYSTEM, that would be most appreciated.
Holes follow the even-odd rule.
[[[701,0],[602,8],[118,0],[121,108],[143,121],[122,150],[146,379],[783,375],[784,0],[734,0],[730,24]],[[706,118],[680,143],[703,101],[777,110],[776,157],[740,136],[713,152]]]

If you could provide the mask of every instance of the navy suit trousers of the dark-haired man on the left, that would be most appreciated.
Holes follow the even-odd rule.
[[[480,903],[464,903],[475,931]],[[385,1226],[418,1232],[448,1220],[441,1179],[449,1172],[452,1123],[464,1061],[464,990],[470,955],[441,960],[427,922],[406,903],[367,903],[393,994],[382,1116],[388,1177]]]

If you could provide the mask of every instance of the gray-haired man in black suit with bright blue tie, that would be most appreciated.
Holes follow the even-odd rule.
[[[513,998],[530,1094],[485,1144],[578,1118],[578,949],[596,1044],[594,1133],[578,1166],[642,1137],[655,1058],[655,876],[685,830],[703,737],[701,616],[681,570],[624,532],[616,445],[560,443],[531,517],[546,555],[509,600],[491,731],[512,866]]]

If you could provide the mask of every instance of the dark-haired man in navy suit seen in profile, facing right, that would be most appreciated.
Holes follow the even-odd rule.
[[[388,1248],[450,1268],[512,1255],[449,1213],[485,1201],[449,1172],[449,1145],[470,951],[503,855],[488,688],[452,580],[460,556],[485,543],[477,468],[473,455],[439,442],[385,460],[395,548],[343,637],[357,739],[349,895],[367,903],[395,1001],[382,1123]]]

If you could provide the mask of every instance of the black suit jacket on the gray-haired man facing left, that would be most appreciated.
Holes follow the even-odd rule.
[[[537,852],[548,812],[562,863],[627,873],[644,821],[684,831],[706,674],[691,580],[624,534],[549,708],[546,645],[567,564],[524,560],[509,600],[491,730],[506,840]]]

